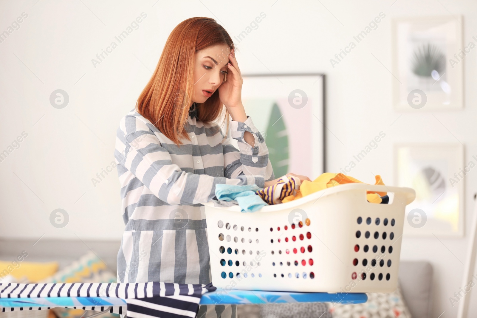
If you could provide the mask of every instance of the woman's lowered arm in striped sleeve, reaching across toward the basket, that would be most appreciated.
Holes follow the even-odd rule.
[[[170,205],[206,203],[215,196],[216,184],[263,186],[265,182],[261,174],[238,174],[231,179],[182,171],[147,124],[132,115],[120,125],[116,142],[117,161]]]

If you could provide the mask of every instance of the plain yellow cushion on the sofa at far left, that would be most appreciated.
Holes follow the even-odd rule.
[[[45,277],[52,276],[57,271],[57,262],[0,261],[0,279],[10,274],[15,279],[23,280],[26,277],[29,282],[37,283]]]

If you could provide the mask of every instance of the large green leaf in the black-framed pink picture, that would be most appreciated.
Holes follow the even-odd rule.
[[[288,132],[280,108],[273,103],[267,126],[265,143],[269,149],[269,160],[275,177],[288,173]]]

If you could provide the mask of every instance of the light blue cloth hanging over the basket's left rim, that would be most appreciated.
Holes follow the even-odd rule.
[[[218,200],[237,201],[241,212],[255,212],[268,205],[255,191],[259,190],[258,185],[215,185],[215,195]]]

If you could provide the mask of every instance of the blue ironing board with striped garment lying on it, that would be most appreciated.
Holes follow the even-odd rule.
[[[364,293],[329,294],[225,290],[217,289],[211,283],[207,285],[159,282],[117,284],[0,283],[1,312],[44,310],[54,307],[100,311],[88,317],[100,315],[105,311],[122,316],[126,312],[134,312],[142,314],[143,317],[156,317],[158,312],[167,312],[168,317],[195,317],[198,305],[302,302],[357,304],[366,302],[366,300],[367,296]],[[168,305],[169,303],[174,305]],[[172,306],[176,307],[173,308]],[[149,311],[151,311],[150,315]],[[131,316],[135,317],[136,315],[132,314]]]

